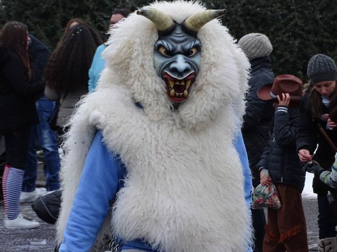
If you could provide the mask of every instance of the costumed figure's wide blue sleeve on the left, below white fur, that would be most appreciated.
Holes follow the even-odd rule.
[[[125,168],[97,131],[78,184],[59,252],[88,252],[109,213]]]

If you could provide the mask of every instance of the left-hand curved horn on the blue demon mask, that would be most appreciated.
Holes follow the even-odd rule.
[[[168,15],[155,8],[143,7],[137,10],[137,14],[150,19],[160,32],[168,31],[174,26],[174,22]]]

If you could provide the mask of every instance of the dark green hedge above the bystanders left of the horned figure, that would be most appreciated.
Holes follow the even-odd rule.
[[[54,48],[71,18],[79,17],[102,36],[109,28],[109,17],[116,4],[109,0],[2,0],[0,25],[16,20],[25,23],[29,32]]]

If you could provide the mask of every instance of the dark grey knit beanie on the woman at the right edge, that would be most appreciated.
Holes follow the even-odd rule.
[[[336,63],[327,55],[316,54],[309,61],[307,75],[312,84],[323,81],[336,81]]]

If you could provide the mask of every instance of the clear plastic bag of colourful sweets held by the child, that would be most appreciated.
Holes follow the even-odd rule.
[[[278,210],[281,208],[281,201],[278,190],[274,184],[264,186],[259,184],[253,192],[252,209],[270,208]]]

